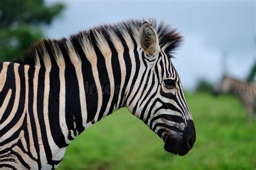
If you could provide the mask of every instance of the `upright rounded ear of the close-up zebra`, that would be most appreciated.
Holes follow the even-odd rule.
[[[143,50],[151,56],[159,49],[156,30],[148,22],[144,22],[142,27],[140,27],[139,41]]]

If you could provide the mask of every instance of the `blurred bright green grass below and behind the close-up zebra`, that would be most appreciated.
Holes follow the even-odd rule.
[[[127,109],[93,125],[66,150],[59,169],[256,169],[256,122],[233,96],[187,94],[197,140],[185,156],[172,155],[163,141]]]

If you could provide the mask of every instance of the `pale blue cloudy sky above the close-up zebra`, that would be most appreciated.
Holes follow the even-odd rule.
[[[256,61],[256,2],[251,1],[82,1],[63,2],[66,9],[50,27],[49,38],[130,18],[156,18],[171,24],[185,38],[172,62],[185,89],[199,79],[217,82],[228,73],[245,79]]]

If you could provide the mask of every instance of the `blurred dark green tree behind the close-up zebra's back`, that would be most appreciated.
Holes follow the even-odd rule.
[[[63,4],[46,5],[44,0],[1,0],[0,60],[21,57],[25,49],[43,37],[41,27],[50,25],[63,9]]]

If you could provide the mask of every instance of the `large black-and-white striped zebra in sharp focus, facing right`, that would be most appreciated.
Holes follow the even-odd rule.
[[[105,24],[44,39],[0,64],[0,168],[54,169],[80,133],[126,107],[185,155],[193,119],[171,58],[182,44],[156,19]]]

